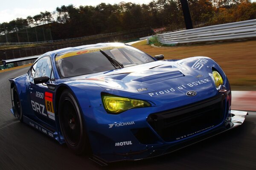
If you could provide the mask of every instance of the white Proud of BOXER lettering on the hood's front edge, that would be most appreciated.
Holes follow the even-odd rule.
[[[198,80],[198,81],[195,81],[195,82],[188,83],[186,85],[180,85],[177,88],[169,88],[169,89],[166,89],[166,90],[163,90],[163,91],[148,93],[148,95],[151,96],[151,97],[152,96],[158,96],[158,95],[167,94],[167,93],[170,93],[170,92],[173,92],[173,91],[176,91],[176,90],[186,89],[187,87],[202,85],[202,84],[207,83],[207,82],[211,82],[211,80],[209,80],[209,79]]]

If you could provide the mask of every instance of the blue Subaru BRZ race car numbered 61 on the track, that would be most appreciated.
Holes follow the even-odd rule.
[[[216,62],[163,58],[122,43],[47,52],[9,79],[11,111],[100,164],[160,156],[244,122]]]

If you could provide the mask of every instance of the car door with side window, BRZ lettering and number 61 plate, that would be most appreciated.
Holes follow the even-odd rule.
[[[52,63],[49,56],[39,59],[31,68],[29,79],[29,91],[31,107],[35,116],[43,122],[55,121],[53,109],[53,91],[50,91],[45,83],[35,84],[34,78],[47,76],[49,81],[54,80]]]

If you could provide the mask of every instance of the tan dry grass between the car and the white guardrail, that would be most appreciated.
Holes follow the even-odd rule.
[[[142,41],[133,44],[133,46],[151,56],[163,54],[165,59],[184,59],[194,56],[210,57],[224,70],[233,90],[256,91],[256,40],[158,48],[146,45],[146,41]]]

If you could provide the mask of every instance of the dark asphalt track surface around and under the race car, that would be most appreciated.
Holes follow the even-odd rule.
[[[255,112],[249,112],[243,125],[174,153],[101,167],[12,116],[8,79],[27,70],[0,73],[0,170],[256,170]]]

